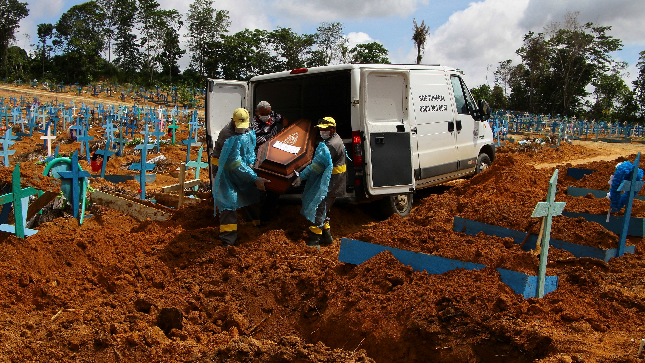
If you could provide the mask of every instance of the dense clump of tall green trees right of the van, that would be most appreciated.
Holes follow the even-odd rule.
[[[611,26],[581,24],[578,12],[544,32],[528,32],[516,54],[499,62],[493,87],[485,83],[471,90],[492,109],[603,121],[643,121],[645,114],[645,51],[637,63],[638,77],[628,87],[628,64],[615,61],[611,52],[622,41],[608,35]],[[590,92],[590,90],[592,90]]]

